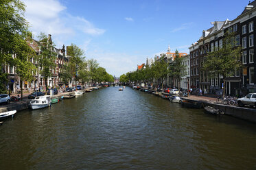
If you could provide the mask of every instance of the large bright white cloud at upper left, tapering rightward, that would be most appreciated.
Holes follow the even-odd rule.
[[[30,30],[36,36],[43,32],[54,36],[56,45],[75,36],[99,36],[105,30],[95,27],[83,17],[68,14],[58,0],[24,0],[25,18],[30,23]]]

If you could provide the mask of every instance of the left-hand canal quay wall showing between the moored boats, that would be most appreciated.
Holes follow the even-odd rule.
[[[86,89],[84,89],[84,91],[85,90],[91,90],[91,89],[93,89],[93,87],[86,88]],[[73,93],[73,92],[59,93],[58,95],[51,96],[51,98],[56,98],[56,97],[60,98],[63,95],[67,95],[67,94],[70,94],[70,93]],[[24,101],[14,101],[14,102],[11,102],[8,105],[0,106],[0,113],[1,112],[8,112],[8,111],[11,111],[11,110],[16,110],[17,112],[19,112],[21,110],[26,110],[26,109],[29,108],[30,101],[31,101],[31,99],[24,99]]]

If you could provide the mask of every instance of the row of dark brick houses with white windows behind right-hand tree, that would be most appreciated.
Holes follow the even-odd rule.
[[[255,78],[255,21],[256,2],[249,3],[245,10],[233,21],[215,21],[213,27],[204,30],[200,39],[189,47],[191,67],[191,88],[201,88],[206,93],[220,95],[223,88],[223,77],[217,73],[202,71],[202,63],[207,53],[222,47],[224,32],[233,32],[231,45],[242,47],[241,61],[243,69],[230,73],[226,78],[226,95],[256,92]]]

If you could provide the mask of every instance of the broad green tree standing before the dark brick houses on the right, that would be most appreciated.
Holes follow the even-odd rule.
[[[242,68],[242,62],[240,61],[242,52],[241,47],[234,48],[231,45],[231,40],[233,39],[233,34],[224,34],[223,47],[216,48],[209,52],[205,56],[206,60],[202,65],[202,69],[208,73],[217,73],[223,76],[223,97],[226,91],[226,77],[234,73],[235,70]]]

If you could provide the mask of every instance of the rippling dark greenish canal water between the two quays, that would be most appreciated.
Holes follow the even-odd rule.
[[[256,169],[256,125],[102,88],[0,126],[0,169]]]

